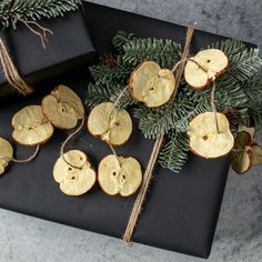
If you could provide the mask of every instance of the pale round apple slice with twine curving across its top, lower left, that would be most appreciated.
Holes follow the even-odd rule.
[[[66,161],[70,164],[68,164]],[[53,167],[53,178],[67,195],[82,195],[95,184],[97,174],[85,153],[71,150],[60,157]]]

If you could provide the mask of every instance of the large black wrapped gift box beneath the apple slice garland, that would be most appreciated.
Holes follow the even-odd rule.
[[[170,38],[181,43],[184,42],[184,27],[93,3],[85,2],[84,7],[91,40],[99,52],[107,52],[111,49],[111,39],[119,30],[142,37]],[[223,39],[215,34],[195,31],[192,52],[208,43]],[[53,53],[53,56],[57,54]],[[80,95],[83,95],[88,81],[84,74],[63,79],[63,83],[74,89]],[[27,104],[40,103],[41,97],[41,93],[36,93],[30,98],[21,99],[18,103],[1,105],[0,135],[11,140],[10,121],[13,113]],[[135,120],[134,127],[131,140],[117,151],[119,154],[135,157],[144,168],[153,141],[142,137]],[[42,147],[36,161],[30,164],[10,167],[10,171],[0,178],[0,206],[88,231],[122,238],[135,195],[131,198],[109,196],[99,185],[79,198],[63,195],[52,178],[52,167],[66,137],[66,132],[56,130],[54,137]],[[85,151],[95,167],[104,155],[110,153],[109,147],[104,142],[92,138],[85,130],[71,143],[70,148]],[[30,154],[32,151],[32,149],[23,147],[17,147],[17,150],[19,157]],[[190,157],[179,175],[157,167],[133,241],[208,258],[228,170],[229,158],[204,160],[194,155]]]

